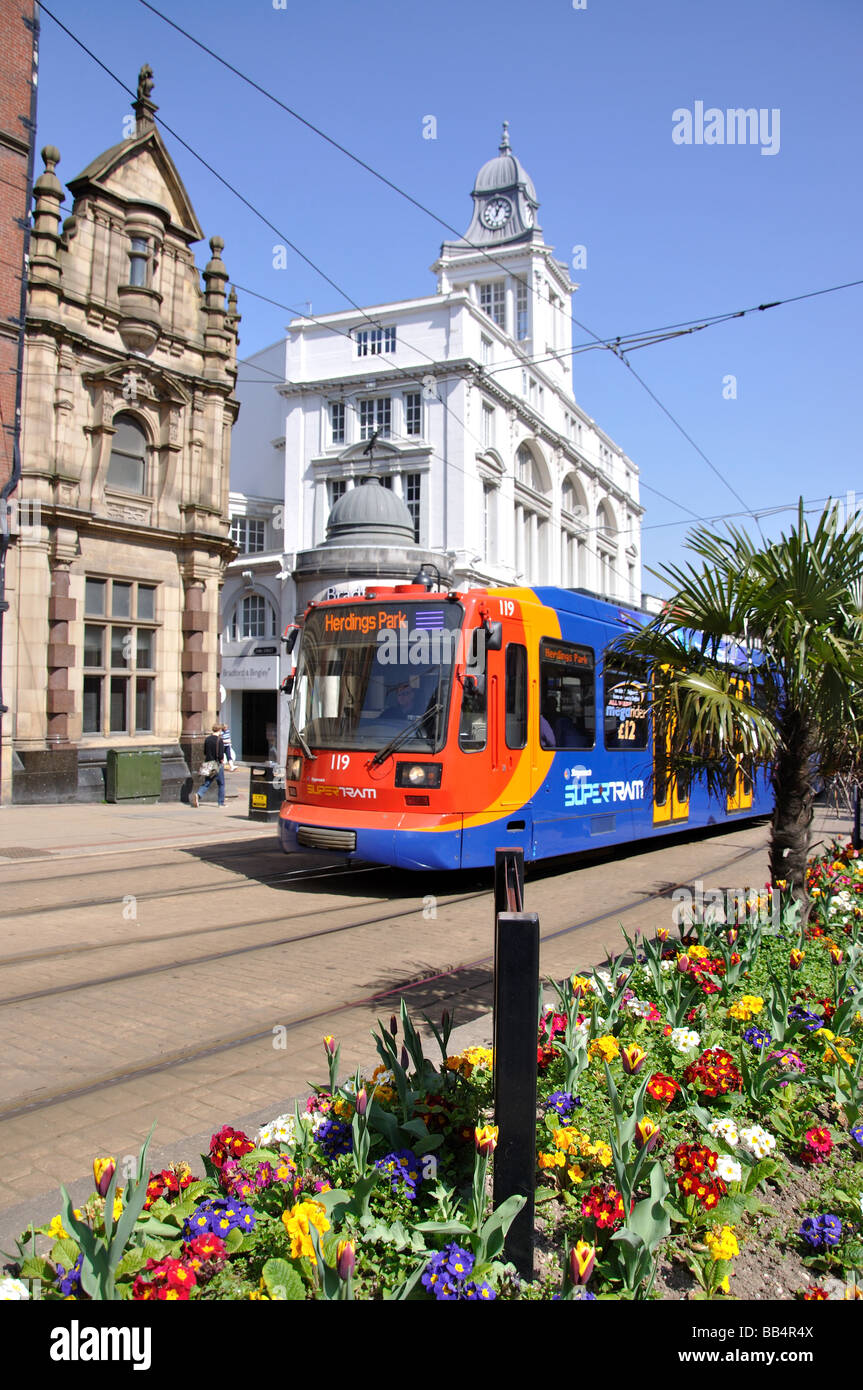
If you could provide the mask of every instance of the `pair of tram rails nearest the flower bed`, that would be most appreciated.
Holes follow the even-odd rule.
[[[724,873],[725,870],[731,869],[732,866],[741,863],[741,860],[743,860],[746,858],[750,858],[752,855],[756,855],[756,853],[760,853],[760,852],[762,852],[762,847],[760,845],[759,847],[752,847],[752,848],[748,848],[748,849],[742,849],[738,853],[735,853],[732,858],[724,860],[723,863],[712,866],[710,872],[712,872],[712,874]],[[568,923],[567,926],[563,926],[563,927],[552,929],[550,931],[548,931],[545,934],[542,934],[542,931],[541,931],[541,945],[543,942],[553,941],[553,940],[557,940],[560,937],[570,935],[573,933],[584,930],[588,926],[595,926],[595,924],[598,924],[600,922],[606,922],[606,920],[613,919],[613,917],[621,919],[621,917],[630,915],[631,912],[643,908],[645,903],[648,903],[650,901],[661,901],[664,898],[668,898],[674,891],[677,891],[678,888],[682,888],[682,887],[687,887],[687,884],[682,883],[682,881],[681,883],[674,883],[674,884],[664,884],[661,888],[639,897],[639,899],[636,902],[624,903],[624,905],[611,908],[607,912],[595,913],[593,916],[581,919],[580,922],[574,922],[574,923]],[[450,899],[450,901],[470,901],[470,899],[478,898],[478,897],[488,897],[488,894],[485,891],[482,894],[479,894],[479,892],[477,892],[477,894],[467,894],[461,899]],[[378,919],[378,920],[386,922],[386,920],[397,919],[399,916],[404,916],[404,913],[389,913],[389,915],[385,915],[382,919]],[[359,929],[361,926],[370,926],[370,924],[375,924],[375,923],[374,922],[346,923],[346,924],[339,926],[339,927],[324,929],[324,933],[329,934],[329,933],[334,933],[334,931],[356,930],[356,929]],[[317,933],[313,933],[311,935],[315,935],[315,934]],[[282,942],[282,944],[290,944],[292,940],[296,942],[299,938],[288,938],[288,941]],[[270,942],[270,944],[264,942],[264,944],[258,944],[257,947],[245,947],[245,948],[240,948],[240,952],[268,949],[268,948],[274,948],[274,945],[275,945],[275,942]],[[225,952],[224,955],[229,955],[229,954],[233,954],[233,952]],[[218,955],[222,955],[222,954],[220,952]],[[304,1026],[309,1026],[311,1023],[315,1023],[315,1022],[331,1020],[334,1016],[338,1016],[340,1013],[346,1013],[346,1012],[349,1012],[352,1009],[371,1008],[371,1006],[374,1006],[375,1004],[379,1004],[384,999],[392,998],[393,995],[410,994],[413,990],[418,990],[422,986],[429,986],[432,983],[439,983],[439,981],[443,981],[443,980],[454,980],[456,981],[459,979],[466,977],[468,974],[468,972],[471,972],[471,970],[479,970],[479,969],[488,967],[492,959],[493,959],[493,955],[489,954],[489,952],[486,952],[486,954],[475,956],[475,958],[472,958],[470,960],[457,962],[457,963],[454,963],[452,966],[447,966],[446,969],[439,970],[439,972],[432,972],[432,973],[424,972],[421,974],[418,973],[416,976],[409,976],[409,977],[406,977],[403,980],[399,980],[399,981],[395,981],[393,984],[389,984],[385,990],[378,990],[378,991],[374,991],[374,992],[361,994],[361,995],[357,995],[354,998],[350,998],[350,999],[343,999],[339,1004],[328,1004],[324,1008],[315,1008],[315,1009],[311,1009],[311,1011],[297,1012],[297,1013],[295,1013],[295,1015],[292,1015],[289,1017],[285,1017],[282,1015],[282,1017],[275,1019],[274,1023],[271,1023],[271,1024],[268,1024],[268,1026],[265,1026],[263,1029],[261,1027],[254,1027],[254,1029],[247,1030],[247,1031],[224,1034],[222,1037],[218,1037],[218,1038],[202,1040],[199,1042],[190,1044],[189,1047],[178,1048],[178,1049],[174,1049],[171,1052],[161,1054],[158,1058],[145,1059],[139,1065],[122,1066],[122,1068],[117,1068],[114,1070],[103,1072],[103,1073],[100,1073],[97,1076],[90,1077],[86,1081],[82,1081],[78,1086],[64,1087],[64,1088],[53,1091],[53,1093],[50,1093],[47,1095],[33,1095],[28,1101],[17,1102],[17,1104],[11,1104],[11,1105],[6,1105],[6,1106],[0,1106],[0,1123],[8,1122],[8,1120],[14,1120],[14,1119],[17,1119],[19,1116],[24,1116],[24,1115],[31,1115],[31,1113],[33,1113],[36,1111],[50,1109],[51,1106],[63,1105],[65,1102],[75,1101],[75,1099],[79,1099],[79,1098],[86,1097],[86,1095],[92,1095],[93,1093],[100,1091],[100,1090],[103,1090],[106,1087],[121,1086],[124,1083],[135,1081],[139,1077],[156,1076],[158,1073],[170,1072],[171,1069],[174,1069],[176,1066],[182,1066],[182,1065],[189,1063],[189,1062],[196,1062],[196,1061],[200,1061],[203,1058],[215,1056],[218,1054],[229,1052],[229,1051],[233,1051],[236,1048],[240,1048],[240,1047],[245,1047],[245,1045],[261,1041],[264,1038],[271,1038],[274,1027],[282,1027],[282,1029],[285,1029],[286,1033],[296,1031],[296,1030],[299,1030],[299,1029],[302,1029]],[[195,963],[200,963],[200,960],[190,962],[190,963],[193,963],[193,965]],[[167,966],[153,967],[153,970],[168,970],[168,969],[178,969],[178,962],[172,962],[172,963],[170,963]],[[142,973],[142,972],[135,972],[135,973]],[[96,983],[100,984],[100,983],[110,983],[110,981],[108,980],[101,980],[101,981],[96,981]],[[485,980],[474,984],[474,986],[468,986],[467,981],[464,980],[464,983],[461,984],[461,987],[459,990],[453,991],[453,995],[454,994],[464,995],[464,994],[477,992],[478,990],[485,988],[486,986],[488,986],[488,977]],[[85,984],[69,986],[69,990],[81,990],[81,988],[85,988],[85,987],[86,987]],[[33,998],[46,998],[46,997],[49,997],[53,992],[57,992],[57,991],[42,991],[42,992],[36,991],[35,994],[29,995],[29,999],[33,999]],[[449,998],[449,997],[446,997],[446,998]],[[445,1004],[446,998],[441,999],[438,1002]],[[4,1001],[4,1002],[14,1002],[14,1001]]]

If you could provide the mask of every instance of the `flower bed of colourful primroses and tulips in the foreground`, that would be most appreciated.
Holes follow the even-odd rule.
[[[18,1241],[0,1297],[595,1300],[863,1297],[863,856],[810,866],[813,913],[688,920],[554,986],[538,1047],[534,1280],[504,1262],[523,1207],[491,1211],[492,1054],[424,1051],[404,1004],[381,1065],[254,1137],[228,1126],[193,1173],[114,1159]],[[741,1269],[750,1275],[741,1277]],[[863,1276],[860,1277],[863,1284]]]

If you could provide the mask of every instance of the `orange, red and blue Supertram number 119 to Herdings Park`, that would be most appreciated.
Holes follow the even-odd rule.
[[[282,848],[399,869],[525,862],[766,815],[655,764],[646,685],[603,652],[645,613],[557,588],[370,587],[311,603],[290,687]]]

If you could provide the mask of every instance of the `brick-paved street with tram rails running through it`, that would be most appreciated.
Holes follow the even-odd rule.
[[[165,1162],[285,1109],[325,1079],[324,1033],[345,1072],[372,1063],[370,1027],[402,994],[491,1034],[491,874],[288,860],[268,827],[176,810],[88,808],[72,824],[67,808],[63,834],[43,816],[14,842],[15,808],[0,813],[7,851],[33,851],[0,849],[0,1236],[53,1215],[60,1182],[85,1195],[93,1155],[136,1152],[154,1119]],[[617,951],[618,922],[670,923],[678,884],[757,888],[766,840],[739,824],[529,873],[543,974]]]

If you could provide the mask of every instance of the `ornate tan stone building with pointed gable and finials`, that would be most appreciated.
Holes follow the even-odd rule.
[[[158,749],[181,795],[218,713],[238,322],[140,71],[135,126],[74,179],[42,152],[6,682],[14,801],[100,801],[108,749]]]

